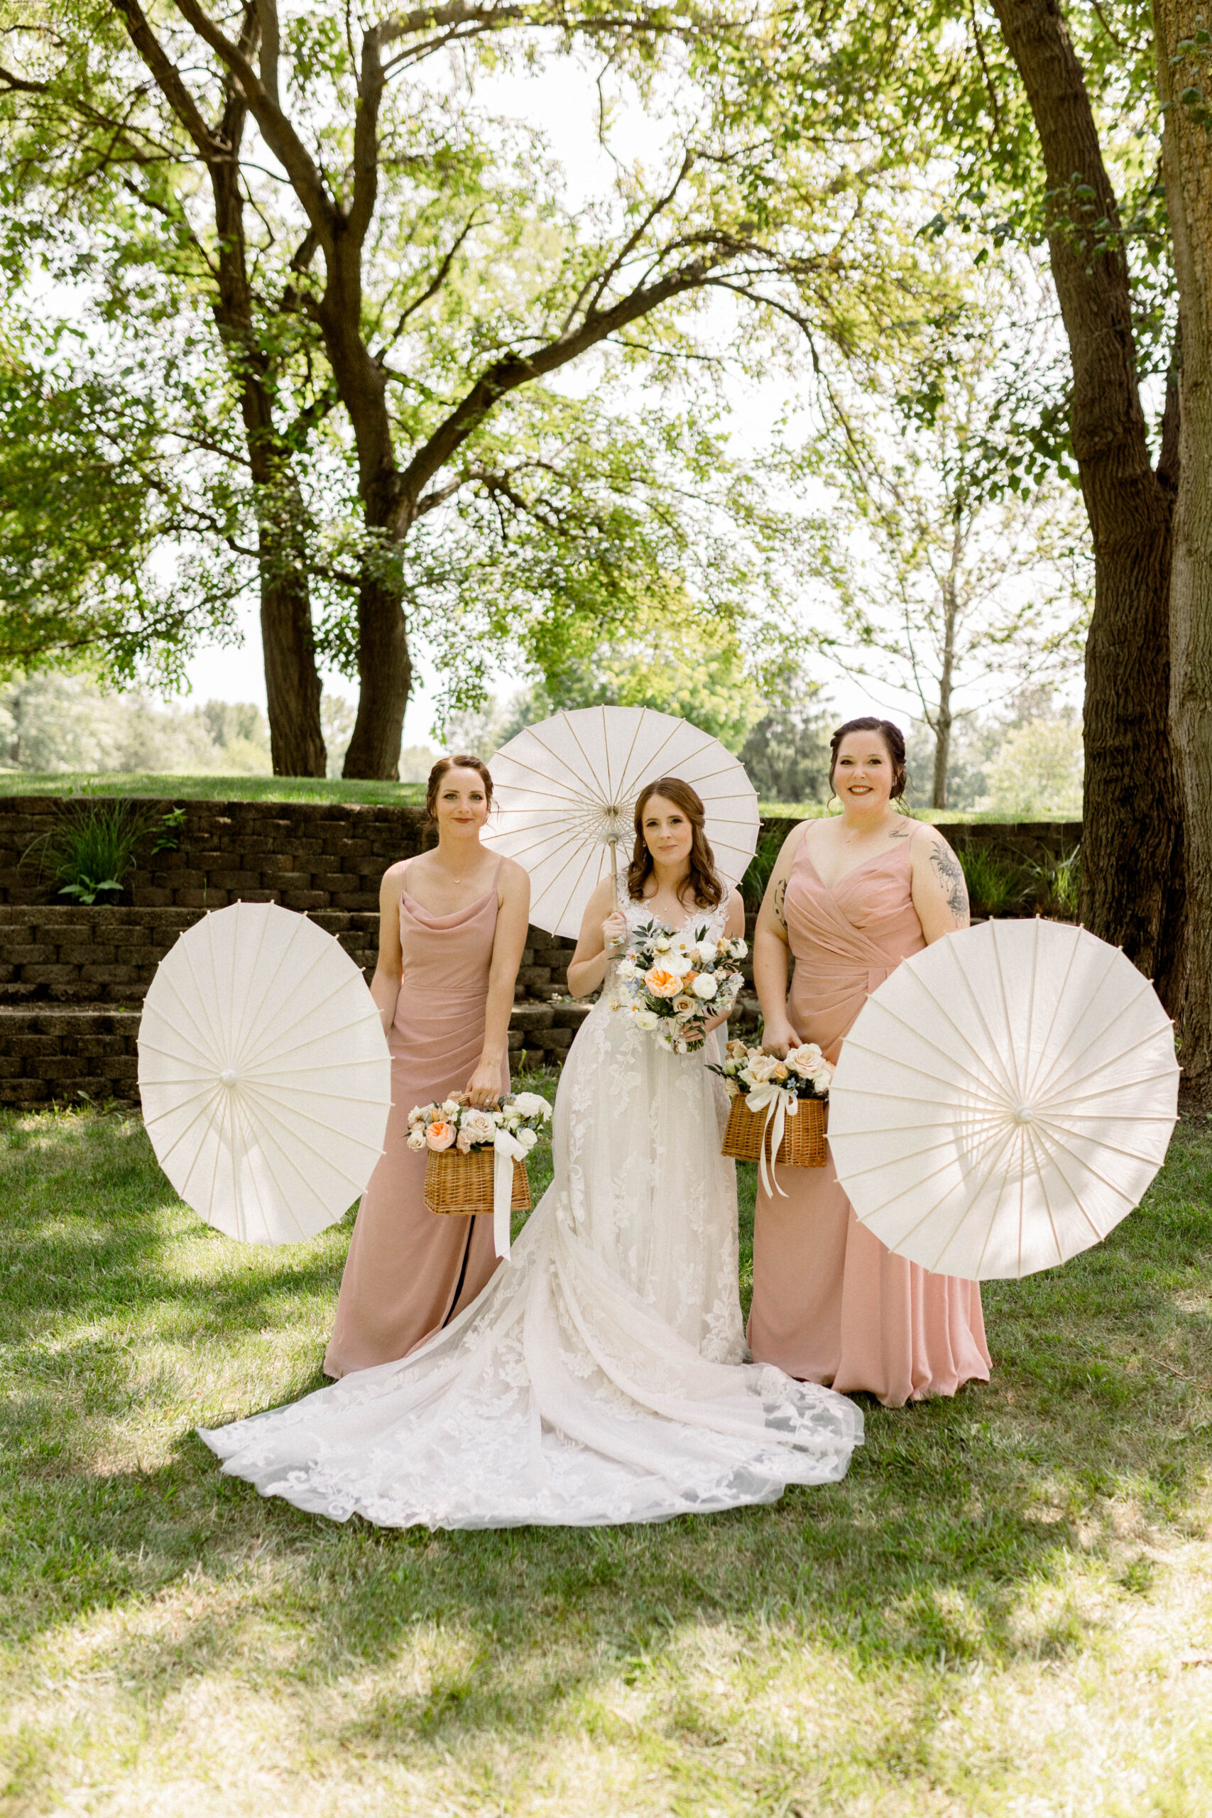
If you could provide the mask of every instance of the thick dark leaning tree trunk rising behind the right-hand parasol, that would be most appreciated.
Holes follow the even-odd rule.
[[[1183,893],[1168,738],[1170,502],[1148,460],[1119,216],[1058,0],[994,0],[994,11],[1052,193],[1052,276],[1074,375],[1070,429],[1094,542],[1081,920],[1121,945],[1174,1007]],[[1099,229],[1101,220],[1110,229]]]

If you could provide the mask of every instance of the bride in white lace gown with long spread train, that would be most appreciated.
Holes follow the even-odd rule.
[[[636,804],[625,896],[589,902],[569,985],[611,980],[652,918],[743,933],[703,804],[680,778]],[[611,1007],[560,1080],[554,1180],[480,1296],[396,1364],[202,1433],[265,1496],[383,1527],[660,1522],[845,1476],[852,1402],[743,1364],[736,1176],[720,1156],[709,1034],[687,1054]]]

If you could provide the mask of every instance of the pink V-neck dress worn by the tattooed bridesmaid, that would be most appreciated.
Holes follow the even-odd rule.
[[[829,1060],[872,993],[925,947],[910,894],[912,838],[849,871],[832,889],[801,844],[787,880],[785,914],[796,956],[789,1016]],[[954,1394],[988,1382],[981,1291],[930,1274],[883,1247],[854,1216],[825,1167],[780,1167],[787,1198],[758,1187],[754,1360],[885,1407]]]

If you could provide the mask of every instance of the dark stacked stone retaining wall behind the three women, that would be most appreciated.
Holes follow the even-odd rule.
[[[138,1100],[140,1005],[178,936],[231,902],[278,902],[333,934],[367,980],[387,865],[432,842],[412,807],[302,802],[140,800],[144,864],[114,905],[64,904],[40,871],[40,842],[64,802],[0,796],[0,1104]],[[176,825],[165,822],[180,813]],[[781,834],[792,822],[767,822]],[[1027,860],[1078,844],[1076,822],[947,825],[952,844],[988,844]],[[156,840],[176,842],[153,853]],[[752,914],[749,918],[752,933]],[[509,1047],[560,1065],[587,1007],[567,1002],[572,942],[531,927]],[[750,967],[747,965],[747,973]],[[752,976],[752,973],[750,973]],[[754,1022],[750,993],[738,1024]]]

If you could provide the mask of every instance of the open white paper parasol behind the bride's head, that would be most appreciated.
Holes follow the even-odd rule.
[[[720,874],[740,884],[758,844],[758,793],[740,758],[652,707],[578,707],[529,725],[492,758],[483,844],[531,873],[531,922],[576,938],[616,849],[631,854],[636,796],[681,776],[703,800]]]

